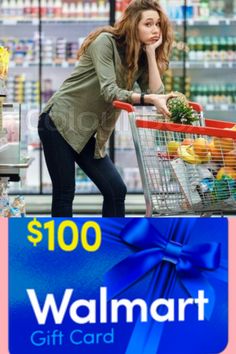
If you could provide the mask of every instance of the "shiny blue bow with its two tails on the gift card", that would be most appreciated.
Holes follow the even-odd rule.
[[[219,267],[219,243],[182,245],[169,241],[148,219],[128,223],[121,233],[121,238],[128,245],[137,248],[138,252],[128,256],[105,274],[108,299],[112,299],[162,261],[166,261],[175,265],[180,280],[192,297],[199,289],[205,290],[211,297],[211,304],[206,311],[206,317],[210,317],[215,295],[201,273],[203,270],[213,271]]]

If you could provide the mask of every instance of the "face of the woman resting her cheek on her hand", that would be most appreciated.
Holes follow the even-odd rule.
[[[155,10],[143,11],[138,24],[138,36],[142,44],[155,43],[161,35],[160,16]]]

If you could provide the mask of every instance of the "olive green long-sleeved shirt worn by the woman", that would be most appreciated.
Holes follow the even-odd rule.
[[[131,102],[134,91],[125,89],[126,69],[120,54],[113,35],[101,33],[43,110],[51,108],[49,114],[58,131],[78,153],[96,134],[94,157],[104,157],[105,144],[120,114],[112,101]],[[146,67],[140,68],[135,81],[141,91],[148,92]]]

